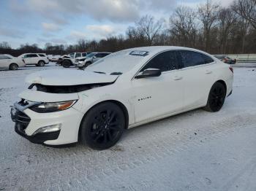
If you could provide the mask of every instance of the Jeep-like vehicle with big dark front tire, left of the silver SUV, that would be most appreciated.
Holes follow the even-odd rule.
[[[89,55],[89,52],[73,52],[69,55],[61,56],[58,63],[64,68],[69,68],[70,66],[74,66],[75,63],[78,63],[80,58],[86,58],[87,55]]]

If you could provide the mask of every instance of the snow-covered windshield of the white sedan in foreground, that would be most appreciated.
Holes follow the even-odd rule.
[[[89,71],[97,71],[105,74],[121,74],[131,70],[136,64],[145,58],[140,55],[130,55],[132,50],[114,52],[105,58],[91,64],[86,68]]]

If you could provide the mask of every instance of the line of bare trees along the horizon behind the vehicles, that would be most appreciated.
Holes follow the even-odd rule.
[[[192,47],[211,54],[256,53],[256,0],[235,0],[221,7],[211,0],[197,8],[178,6],[166,20],[145,15],[127,28],[125,35],[110,36],[99,41],[80,39],[76,44],[21,44],[12,49],[0,43],[0,53],[20,55],[45,52],[63,55],[69,52],[116,52],[129,47],[172,45]]]

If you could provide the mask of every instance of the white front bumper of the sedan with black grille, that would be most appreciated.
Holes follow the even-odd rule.
[[[15,103],[11,109],[15,132],[36,144],[61,145],[78,141],[78,131],[83,114],[69,108],[60,112],[37,113],[29,109],[38,102]],[[56,128],[59,126],[59,129]]]

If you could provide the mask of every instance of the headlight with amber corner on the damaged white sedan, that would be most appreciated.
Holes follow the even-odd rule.
[[[53,103],[41,103],[29,107],[34,112],[37,113],[49,113],[49,112],[59,112],[65,109],[69,109],[75,104],[76,100],[72,101],[61,101]]]

